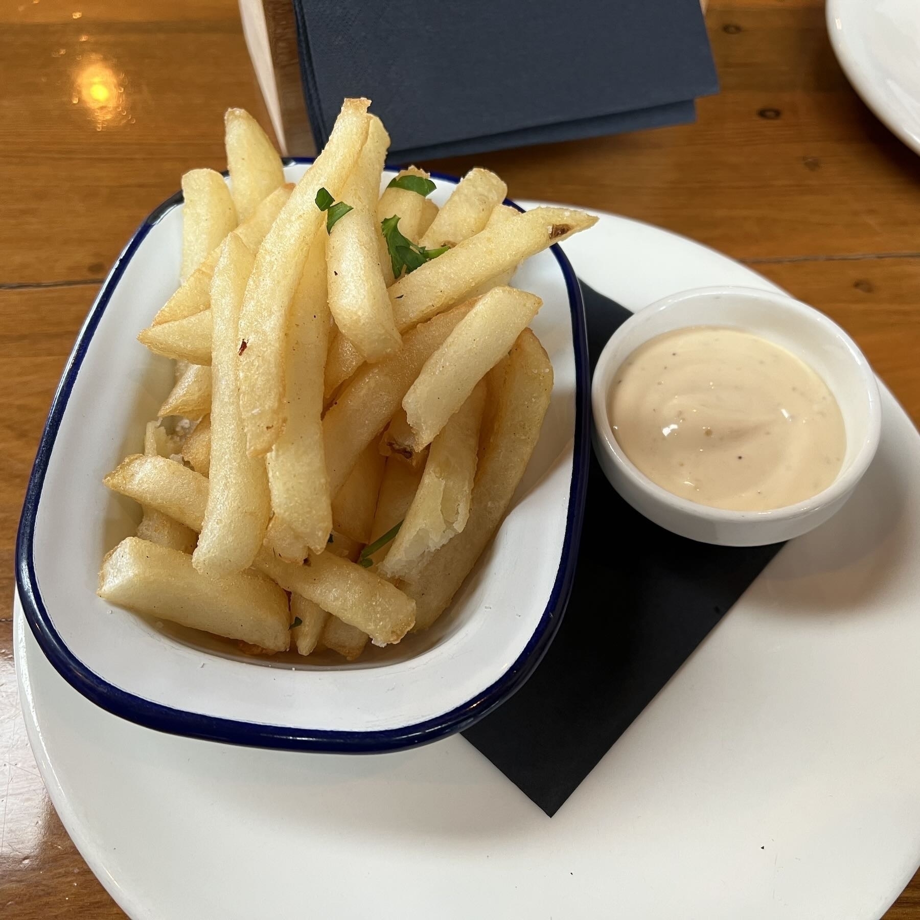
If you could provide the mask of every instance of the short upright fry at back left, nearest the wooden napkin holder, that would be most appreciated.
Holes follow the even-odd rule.
[[[224,112],[224,144],[230,192],[240,223],[284,182],[282,158],[246,109]]]

